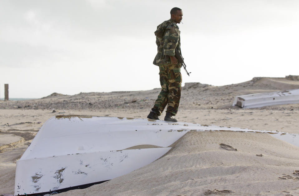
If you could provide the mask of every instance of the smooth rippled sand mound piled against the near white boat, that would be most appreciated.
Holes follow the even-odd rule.
[[[230,144],[228,151],[219,144]],[[87,189],[60,195],[205,195],[230,190],[229,195],[282,191],[299,194],[293,176],[299,167],[299,148],[267,134],[189,132],[159,160],[127,175]],[[262,154],[262,157],[257,156]],[[292,176],[284,180],[283,176]]]

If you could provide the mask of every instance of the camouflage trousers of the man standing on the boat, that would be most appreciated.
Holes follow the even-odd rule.
[[[181,98],[181,65],[159,65],[161,92],[152,108],[159,116],[167,106],[166,112],[176,115]]]

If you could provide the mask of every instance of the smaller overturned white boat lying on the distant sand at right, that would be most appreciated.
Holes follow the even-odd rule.
[[[292,103],[299,103],[299,89],[236,96],[233,106],[255,108]]]

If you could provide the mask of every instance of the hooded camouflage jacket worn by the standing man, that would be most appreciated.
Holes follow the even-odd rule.
[[[175,56],[175,49],[180,50],[181,39],[179,27],[173,20],[169,19],[157,26],[155,35],[158,52],[153,64],[171,63],[169,56]]]

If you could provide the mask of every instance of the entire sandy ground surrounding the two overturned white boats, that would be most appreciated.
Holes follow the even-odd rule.
[[[299,81],[259,77],[226,86],[186,83],[176,117],[180,122],[299,134],[299,104],[232,106],[237,95],[289,89],[299,89]],[[0,195],[14,194],[16,161],[52,116],[146,118],[159,91],[57,92],[41,99],[0,101]],[[220,148],[221,143],[238,151]],[[269,134],[188,132],[171,147],[129,174],[59,195],[299,195],[299,147]]]

